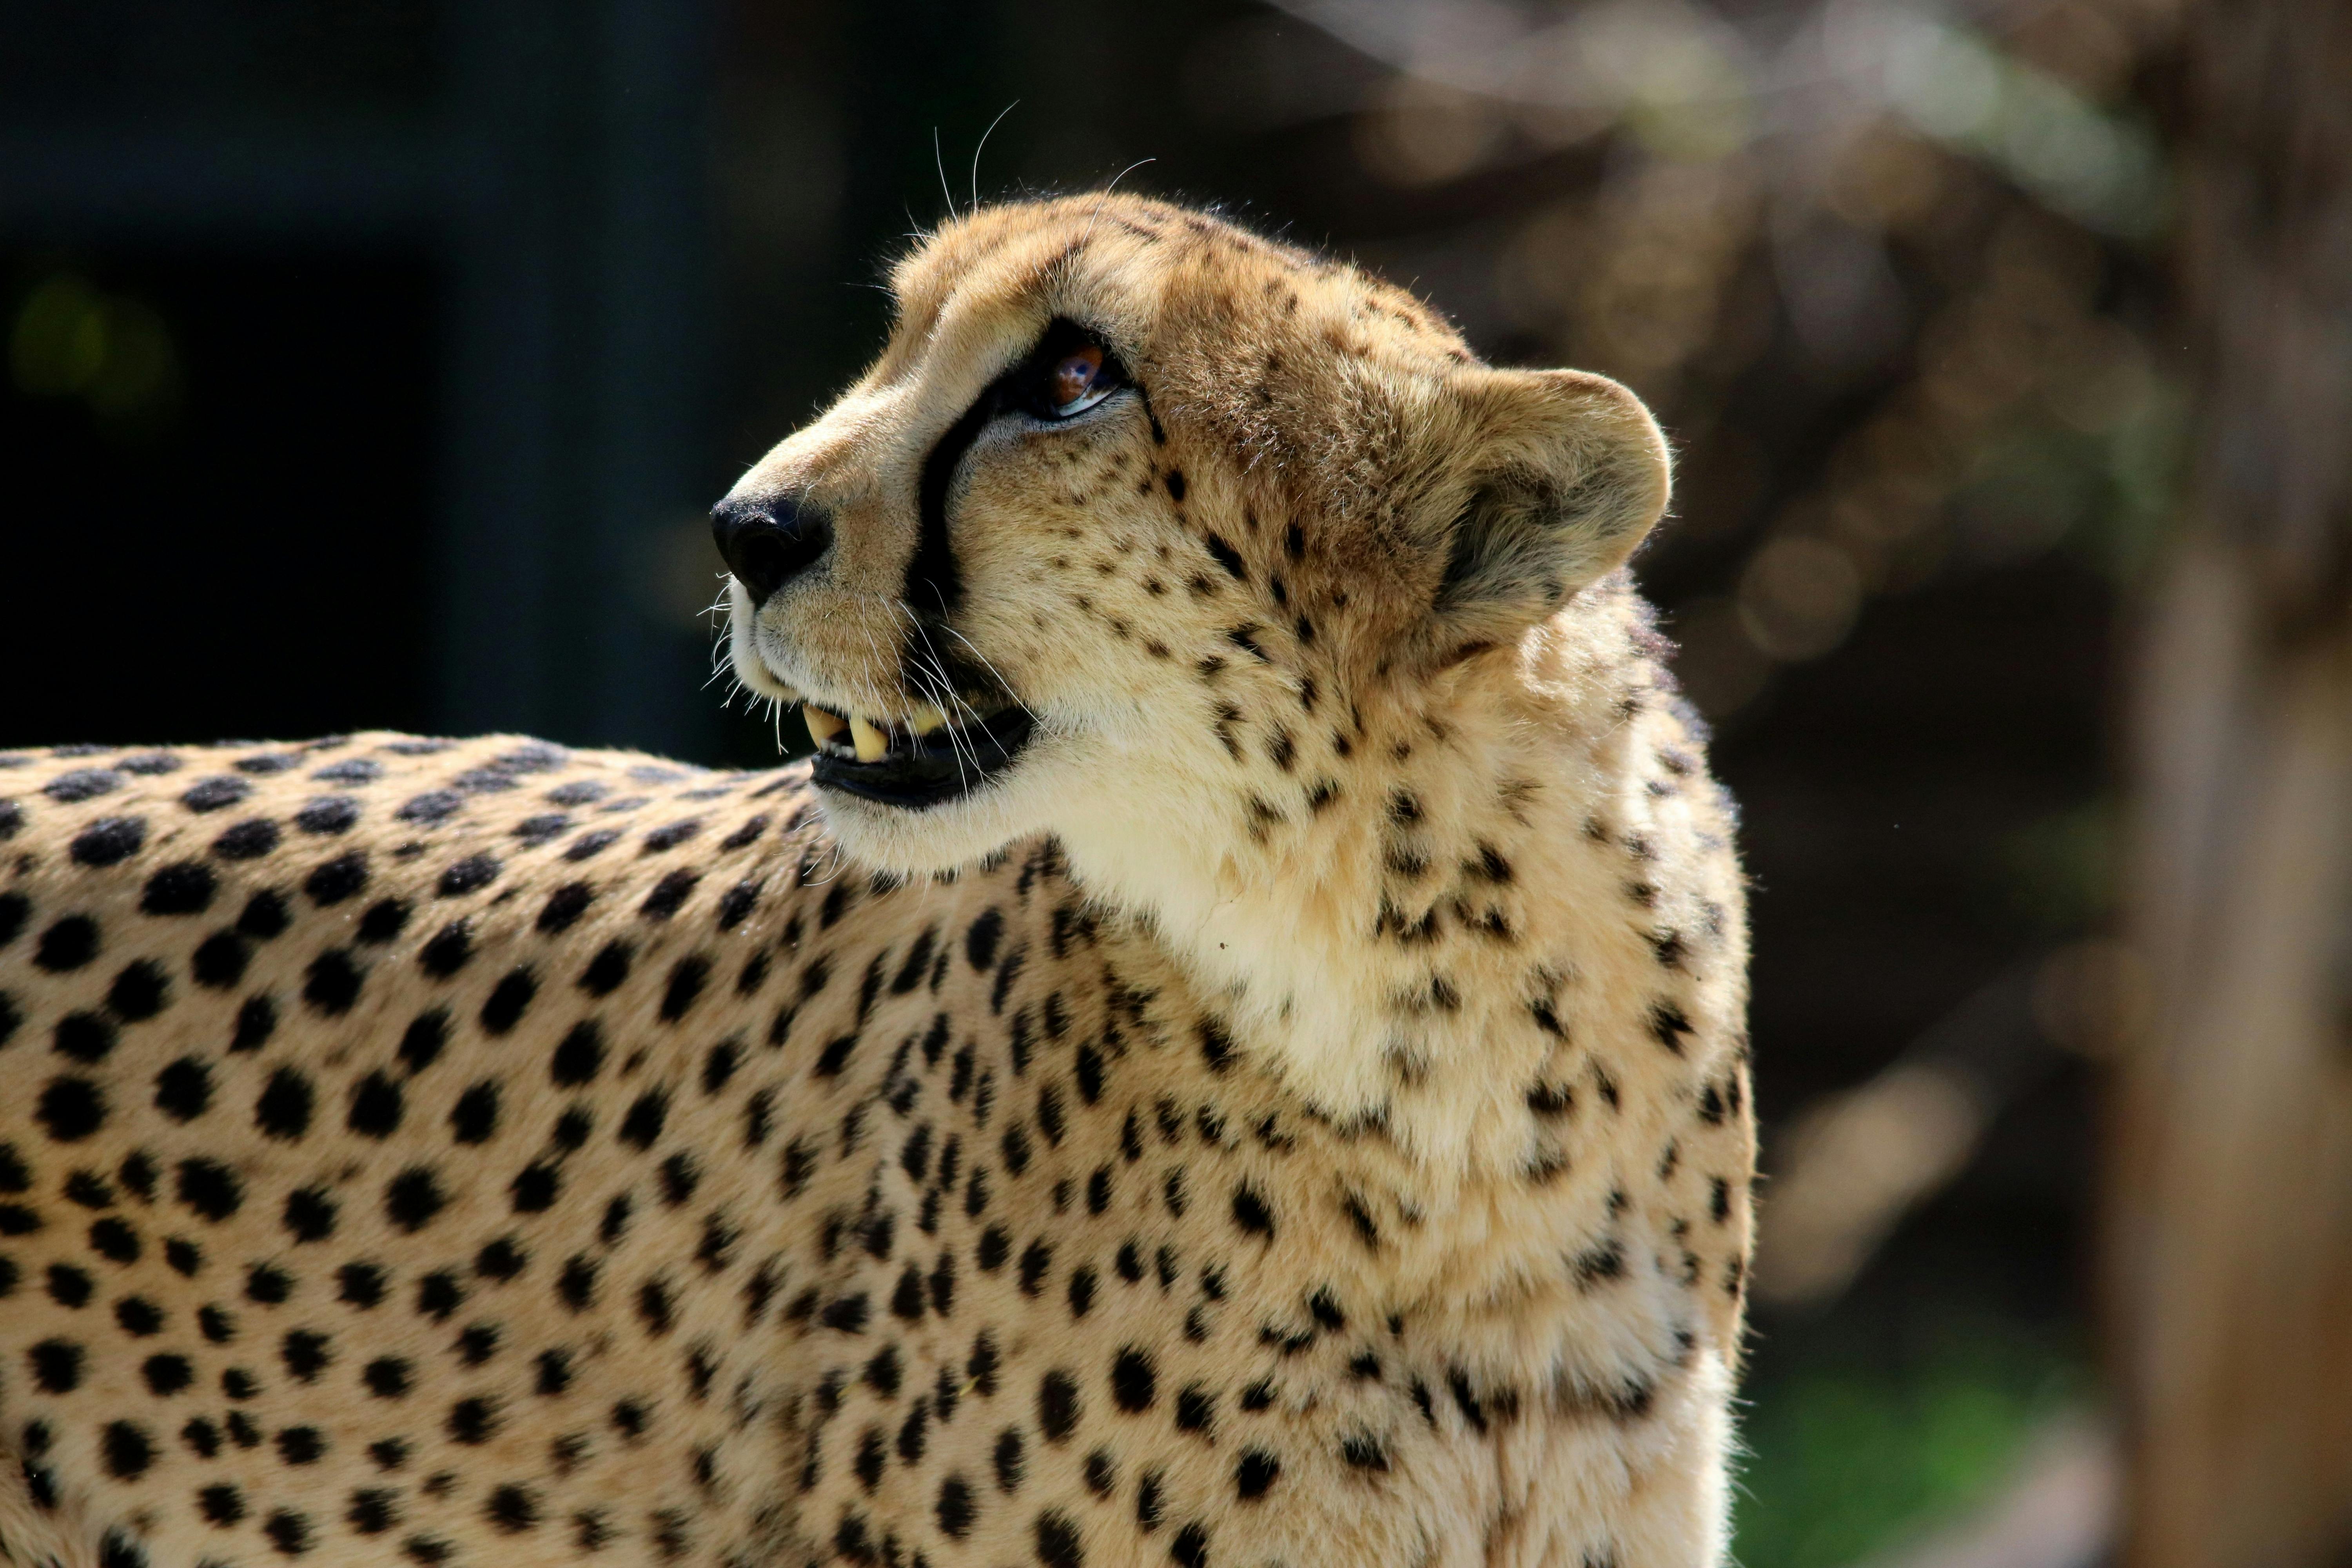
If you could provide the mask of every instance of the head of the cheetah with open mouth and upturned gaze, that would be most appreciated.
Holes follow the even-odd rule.
[[[1613,381],[1486,367],[1200,212],[985,207],[891,296],[873,369],[713,512],[734,672],[807,703],[875,867],[1305,823],[1369,710],[1508,658],[1665,505]]]

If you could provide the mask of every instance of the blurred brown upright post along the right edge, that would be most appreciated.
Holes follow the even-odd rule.
[[[2199,407],[2138,668],[2129,1568],[2352,1563],[2352,5],[2190,26]]]

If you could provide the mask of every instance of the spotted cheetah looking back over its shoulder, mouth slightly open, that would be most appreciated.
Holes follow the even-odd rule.
[[[16,1568],[1724,1559],[1658,428],[1152,200],[891,299],[713,515],[811,759],[0,755]]]

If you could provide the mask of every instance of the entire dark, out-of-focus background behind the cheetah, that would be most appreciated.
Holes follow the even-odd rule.
[[[0,745],[771,762],[703,508],[1112,176],[1677,442],[1738,1559],[2352,1566],[2343,0],[16,0]]]

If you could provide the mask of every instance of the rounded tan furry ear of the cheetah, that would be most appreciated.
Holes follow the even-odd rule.
[[[1616,571],[1665,512],[1668,449],[1642,400],[1585,371],[1468,369],[1437,508],[1449,646],[1515,639]],[[1449,421],[1451,423],[1451,421]]]

